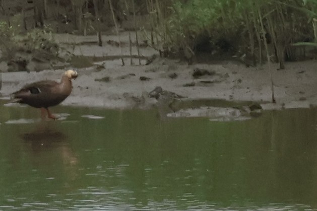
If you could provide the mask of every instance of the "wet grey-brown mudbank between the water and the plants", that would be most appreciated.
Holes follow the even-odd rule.
[[[58,39],[61,43],[67,39],[75,39],[69,39],[67,36]],[[126,34],[123,37],[126,38]],[[96,37],[76,39],[76,43],[81,43]],[[123,38],[120,40],[125,41]],[[123,51],[125,55],[129,55],[127,48]],[[81,56],[107,55],[116,58],[115,56],[119,55],[119,50],[111,44],[104,47],[76,44],[72,50],[74,54]],[[142,56],[151,56],[153,53],[155,50],[148,46],[141,49]],[[270,103],[271,82],[267,65],[246,67],[235,61],[188,65],[179,60],[161,58],[155,59],[150,65],[130,65],[129,58],[125,59],[125,66],[121,66],[120,59],[99,59],[92,61],[92,64],[89,67],[77,68],[79,78],[73,83],[71,96],[62,105],[120,109],[158,106],[163,108],[166,114],[182,109],[183,116],[188,115],[186,108],[234,107],[213,104],[214,100],[258,102],[264,109],[308,108],[317,105],[316,60],[289,62],[284,70],[277,70],[278,64],[271,65],[276,104]],[[137,58],[134,58],[134,64],[138,64]],[[65,68],[73,67],[70,65]],[[47,69],[38,73],[3,73],[1,96],[6,97],[34,81],[59,80],[65,68]],[[157,96],[151,93],[156,87],[160,87],[162,91]],[[196,101],[202,99],[205,101]],[[206,103],[206,100],[209,103]],[[195,104],[193,101],[199,103]],[[186,106],[183,106],[185,104]]]

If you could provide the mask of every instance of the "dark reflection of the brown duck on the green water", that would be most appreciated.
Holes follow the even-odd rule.
[[[41,121],[33,124],[35,129],[19,136],[35,169],[55,170],[65,175],[64,179],[69,182],[76,178],[78,157],[70,146],[69,135],[58,125],[56,121]]]

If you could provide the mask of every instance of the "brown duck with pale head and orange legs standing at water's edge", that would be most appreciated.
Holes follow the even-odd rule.
[[[76,79],[77,76],[76,71],[69,69],[62,75],[60,83],[47,80],[26,85],[21,90],[12,93],[16,99],[14,102],[41,108],[42,117],[46,111],[48,118],[57,119],[49,112],[48,107],[58,105],[71,94],[72,79]]]

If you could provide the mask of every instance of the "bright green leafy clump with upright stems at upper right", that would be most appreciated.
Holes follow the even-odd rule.
[[[317,36],[316,0],[175,0],[150,14],[160,16],[161,10],[170,15],[155,33],[171,53],[185,54],[188,48],[193,53],[240,53],[253,63],[269,57],[284,68],[285,59],[300,56],[293,43],[315,42]]]

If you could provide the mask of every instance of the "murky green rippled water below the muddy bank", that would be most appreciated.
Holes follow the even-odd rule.
[[[37,109],[0,106],[0,210],[317,208],[316,109],[234,122],[52,112],[70,115],[41,122]]]

